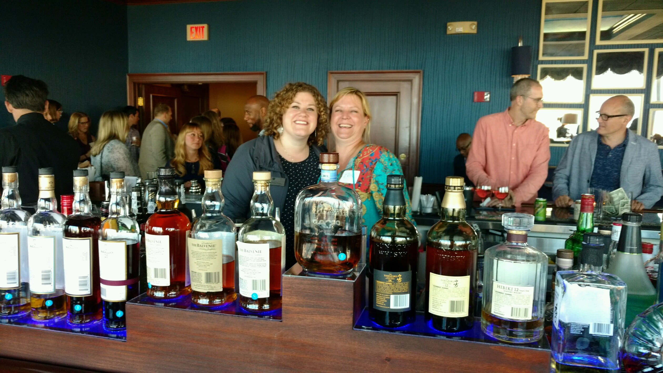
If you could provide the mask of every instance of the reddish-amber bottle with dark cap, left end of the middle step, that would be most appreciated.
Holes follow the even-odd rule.
[[[154,299],[175,299],[191,293],[186,268],[186,237],[191,223],[177,209],[180,197],[175,189],[175,169],[158,168],[158,180],[158,210],[145,224],[147,295]]]

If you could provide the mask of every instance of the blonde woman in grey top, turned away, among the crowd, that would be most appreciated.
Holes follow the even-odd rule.
[[[141,176],[138,164],[125,146],[127,131],[125,113],[110,110],[101,115],[99,138],[90,149],[95,181],[108,180],[113,171],[123,171],[125,176]]]

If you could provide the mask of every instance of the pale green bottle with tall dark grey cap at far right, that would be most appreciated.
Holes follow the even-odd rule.
[[[621,223],[617,254],[606,272],[618,276],[629,286],[626,321],[630,323],[638,313],[654,304],[656,289],[642,264],[642,215],[623,213]]]

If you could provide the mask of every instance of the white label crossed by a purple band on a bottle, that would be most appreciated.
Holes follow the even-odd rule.
[[[127,300],[127,286],[104,284],[107,281],[127,280],[127,242],[99,240],[99,278],[101,299]]]

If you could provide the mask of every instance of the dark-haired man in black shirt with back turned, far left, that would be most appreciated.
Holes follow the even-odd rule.
[[[15,126],[0,129],[0,166],[19,168],[19,193],[25,204],[38,199],[38,169],[52,167],[55,194],[72,193],[72,171],[78,168],[76,140],[44,118],[48,87],[41,80],[13,76],[5,83],[5,107]]]

